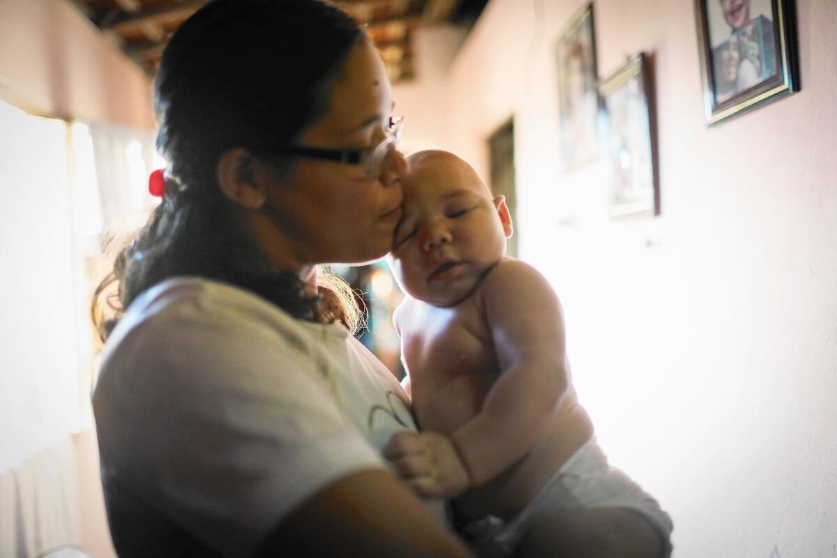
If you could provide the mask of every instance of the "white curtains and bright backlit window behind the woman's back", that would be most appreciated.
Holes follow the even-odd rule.
[[[153,138],[2,102],[0,130],[0,556],[22,557],[79,542],[71,435],[92,427],[100,237],[136,228],[154,206]]]

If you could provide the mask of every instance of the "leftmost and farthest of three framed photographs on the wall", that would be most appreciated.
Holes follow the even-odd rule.
[[[558,113],[565,170],[598,157],[600,107],[593,3],[579,11],[558,39]]]

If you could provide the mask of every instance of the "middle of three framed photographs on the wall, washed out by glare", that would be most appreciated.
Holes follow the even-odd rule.
[[[601,85],[612,217],[658,215],[660,184],[649,59],[629,59]]]

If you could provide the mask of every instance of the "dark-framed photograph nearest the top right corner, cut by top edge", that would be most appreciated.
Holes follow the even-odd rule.
[[[799,90],[793,0],[695,0],[706,124]]]

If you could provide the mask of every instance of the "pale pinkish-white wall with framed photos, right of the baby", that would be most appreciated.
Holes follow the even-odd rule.
[[[609,220],[601,164],[560,171],[554,50],[580,0],[492,0],[441,90],[396,88],[409,148],[483,177],[514,115],[521,255],[557,289],[598,438],[670,511],[678,557],[837,556],[837,3],[796,4],[803,90],[707,129],[691,0],[595,3],[601,75],[655,57],[657,218]]]

